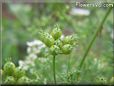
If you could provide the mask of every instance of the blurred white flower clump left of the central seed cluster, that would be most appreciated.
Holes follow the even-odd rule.
[[[42,51],[42,49],[44,49]],[[45,45],[39,41],[39,40],[33,40],[31,42],[27,42],[27,53],[28,55],[26,56],[26,58],[23,60],[19,60],[19,67],[24,69],[24,70],[28,70],[29,67],[33,67],[34,61],[40,57],[40,54],[46,53],[45,52]],[[42,53],[43,52],[43,53]]]

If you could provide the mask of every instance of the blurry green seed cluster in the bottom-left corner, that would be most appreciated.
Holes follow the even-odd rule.
[[[3,81],[5,84],[23,84],[30,83],[24,70],[16,67],[14,63],[8,61],[2,70]]]

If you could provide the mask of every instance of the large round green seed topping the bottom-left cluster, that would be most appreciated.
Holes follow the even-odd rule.
[[[14,71],[15,71],[15,64],[12,63],[12,62],[7,62],[4,65],[4,68],[3,69],[4,69],[5,75],[12,76],[14,74]]]

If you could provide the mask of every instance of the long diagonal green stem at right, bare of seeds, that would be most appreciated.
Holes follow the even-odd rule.
[[[87,47],[86,52],[84,53],[84,56],[83,56],[83,58],[82,58],[82,60],[81,60],[81,62],[80,62],[79,69],[82,68],[82,66],[83,66],[83,64],[84,64],[84,61],[85,61],[85,59],[86,59],[86,56],[88,55],[89,50],[90,50],[90,48],[91,48],[93,42],[95,41],[95,39],[96,39],[96,37],[97,37],[99,31],[101,31],[101,30],[103,29],[102,26],[103,26],[103,24],[104,24],[106,18],[108,17],[109,13],[111,12],[111,10],[112,10],[112,7],[110,7],[110,8],[108,9],[108,11],[106,12],[106,14],[105,14],[103,20],[101,21],[99,27],[97,28],[96,32],[94,33],[93,38],[92,38],[92,40],[90,41],[89,46]]]

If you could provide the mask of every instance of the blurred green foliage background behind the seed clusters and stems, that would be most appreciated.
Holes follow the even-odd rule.
[[[2,5],[2,62],[7,59],[18,65],[19,60],[27,56],[27,41],[38,39],[38,31],[50,31],[55,24],[59,24],[64,35],[76,33],[78,46],[69,56],[59,55],[56,60],[56,72],[58,82],[68,82],[64,71],[67,70],[67,62],[70,58],[70,71],[72,82],[75,82],[75,70],[77,69],[83,54],[90,42],[96,28],[100,24],[108,8],[80,8],[74,3],[26,3],[26,4],[3,4]],[[94,82],[95,78],[103,77],[109,82],[114,76],[113,58],[113,12],[108,16],[103,30],[99,32],[92,49],[84,63],[81,74],[81,82]],[[50,60],[51,61],[51,60]],[[50,62],[42,64],[36,61],[36,70],[41,77],[48,79],[51,69],[47,70]],[[46,74],[48,72],[49,74]],[[61,77],[61,78],[60,78]],[[45,81],[44,78],[41,79]]]

